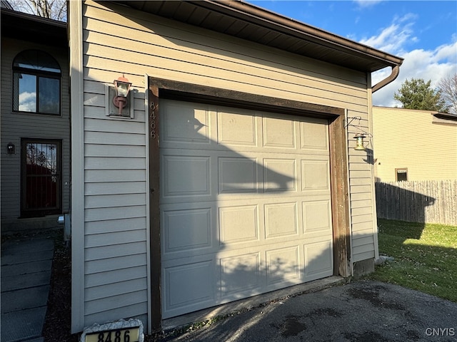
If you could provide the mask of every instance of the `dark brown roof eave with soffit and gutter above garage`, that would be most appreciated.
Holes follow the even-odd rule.
[[[113,2],[356,71],[373,72],[403,62],[403,58],[243,1]]]

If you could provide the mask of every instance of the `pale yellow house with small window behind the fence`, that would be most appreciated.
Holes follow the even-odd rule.
[[[377,181],[456,180],[457,115],[373,107]]]

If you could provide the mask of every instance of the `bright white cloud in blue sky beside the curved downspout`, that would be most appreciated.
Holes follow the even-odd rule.
[[[415,18],[416,16],[413,14],[396,18],[395,22],[391,26],[383,28],[378,36],[363,38],[360,41],[404,58],[398,78],[373,94],[373,105],[400,107],[401,103],[393,99],[393,94],[406,79],[422,78],[426,82],[431,80],[431,87],[436,88],[441,78],[457,73],[457,39],[455,35],[451,38],[450,43],[438,46],[434,50],[408,51],[408,45],[412,41],[418,40],[413,31]],[[390,68],[373,73],[372,83],[378,83],[390,73]]]

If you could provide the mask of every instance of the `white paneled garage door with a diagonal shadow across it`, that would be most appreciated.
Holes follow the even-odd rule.
[[[333,274],[327,120],[160,110],[164,318]]]

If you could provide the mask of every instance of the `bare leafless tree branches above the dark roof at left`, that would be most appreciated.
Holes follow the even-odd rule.
[[[10,0],[16,11],[66,21],[65,0]]]

